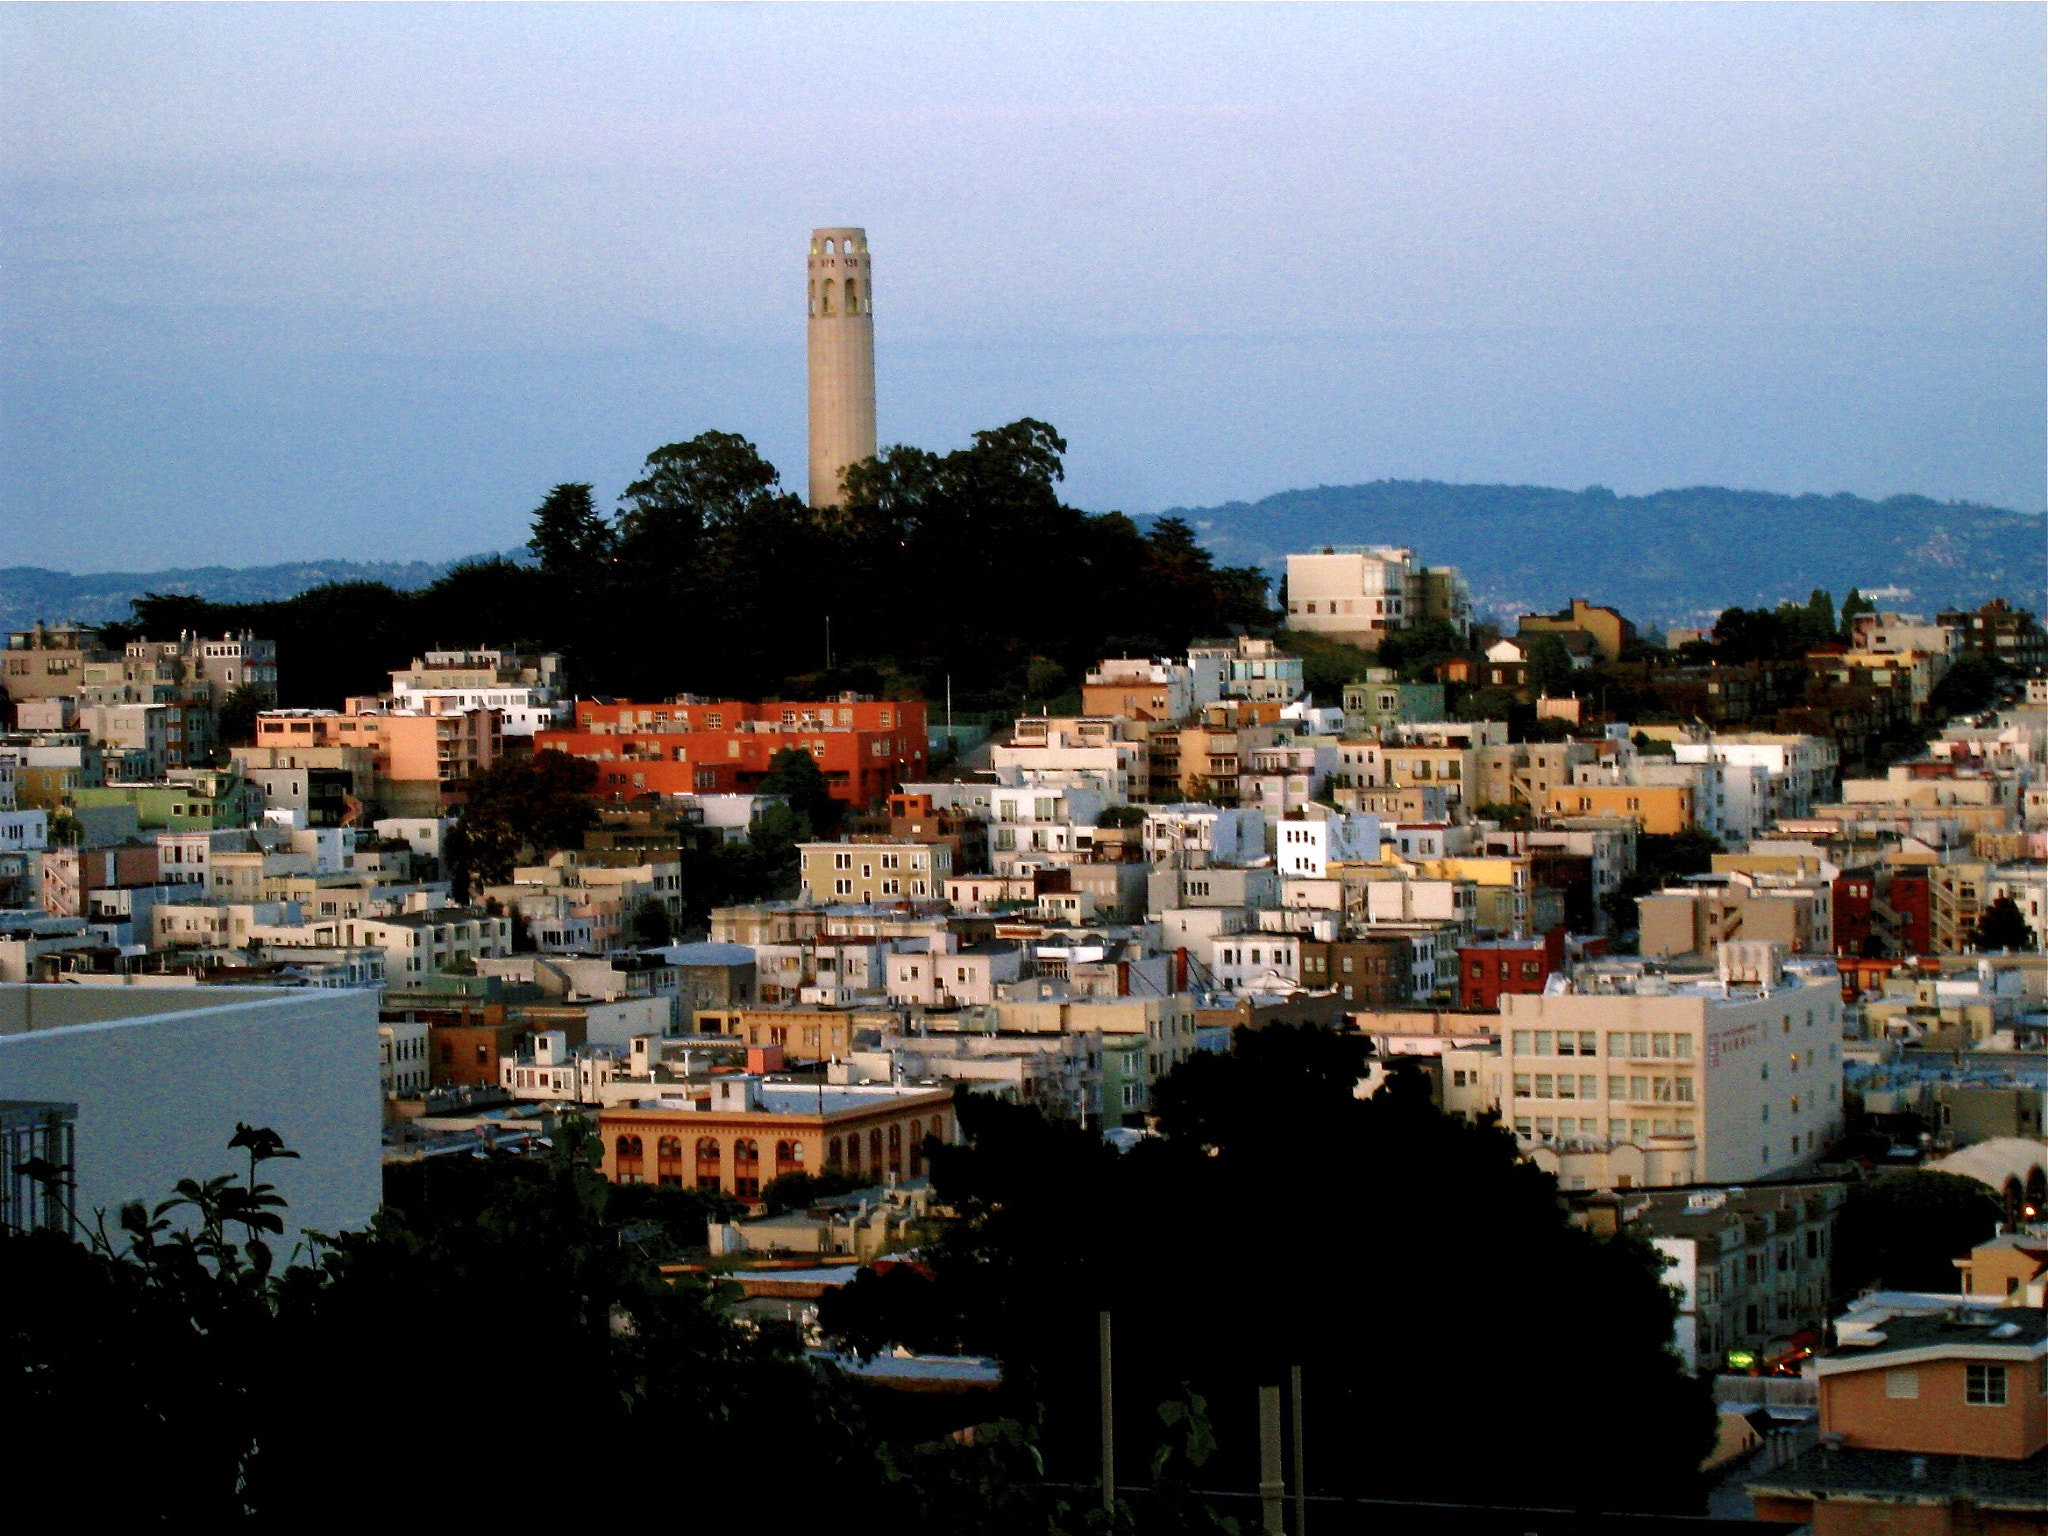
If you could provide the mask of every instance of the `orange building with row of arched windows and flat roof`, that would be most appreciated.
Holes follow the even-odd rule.
[[[924,1178],[926,1141],[950,1141],[950,1087],[776,1083],[715,1077],[688,1098],[598,1114],[604,1178],[758,1200],[786,1174],[836,1171],[881,1184]]]

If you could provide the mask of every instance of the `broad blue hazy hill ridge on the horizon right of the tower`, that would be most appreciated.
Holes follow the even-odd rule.
[[[1604,485],[1380,479],[1159,516],[1192,522],[1219,561],[1262,565],[1276,580],[1288,553],[1407,545],[1430,565],[1458,565],[1493,616],[1579,596],[1645,625],[1698,623],[1729,606],[1804,602],[1812,588],[1839,602],[1851,586],[1927,614],[1993,596],[2040,612],[2048,600],[2048,518],[1925,496],[1718,485],[1616,496]]]

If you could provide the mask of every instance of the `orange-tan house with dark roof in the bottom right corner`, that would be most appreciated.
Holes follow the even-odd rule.
[[[1815,1536],[2048,1530],[2048,1315],[1958,1305],[1837,1323],[1815,1362],[1821,1444],[1749,1483]]]

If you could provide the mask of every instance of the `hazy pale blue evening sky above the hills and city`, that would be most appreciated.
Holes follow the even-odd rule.
[[[0,6],[0,563],[510,547],[754,438],[2040,510],[2044,8]]]

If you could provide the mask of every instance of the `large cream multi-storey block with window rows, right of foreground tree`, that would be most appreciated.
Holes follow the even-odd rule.
[[[1841,1128],[1835,967],[1767,944],[1720,961],[1583,967],[1569,991],[1501,997],[1501,1118],[1565,1188],[1747,1184]]]

